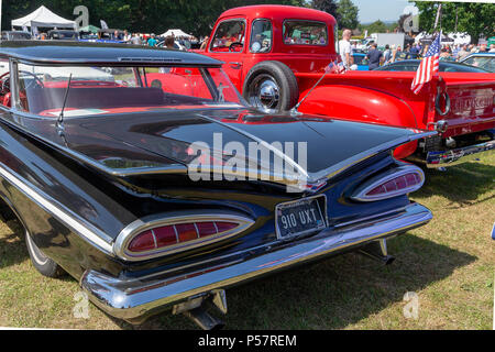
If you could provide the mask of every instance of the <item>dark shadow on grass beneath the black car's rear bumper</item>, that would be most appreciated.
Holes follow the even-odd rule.
[[[349,253],[231,288],[228,315],[212,312],[227,329],[342,329],[476,260],[411,234],[391,240],[389,251],[397,255],[389,266]],[[185,317],[163,314],[141,328],[197,327]]]

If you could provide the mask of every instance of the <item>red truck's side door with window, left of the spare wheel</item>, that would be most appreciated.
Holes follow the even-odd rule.
[[[222,68],[239,91],[242,90],[245,32],[244,19],[224,20],[217,25],[208,47],[208,56],[226,63]]]

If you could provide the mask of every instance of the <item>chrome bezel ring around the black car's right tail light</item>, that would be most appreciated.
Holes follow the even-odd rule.
[[[386,191],[385,194],[378,194],[378,195],[369,195],[371,190],[378,187],[380,185],[383,185],[389,180],[393,180],[395,178],[398,178],[400,176],[405,176],[407,174],[416,174],[419,176],[419,183],[407,186],[405,188]],[[358,201],[377,201],[377,200],[384,200],[389,199],[403,195],[410,194],[415,190],[418,190],[422,187],[425,184],[425,173],[421,168],[414,166],[414,165],[404,165],[399,167],[392,168],[385,173],[382,173],[370,180],[365,182],[363,185],[359,186],[355,191],[352,194],[351,199],[358,200]]]

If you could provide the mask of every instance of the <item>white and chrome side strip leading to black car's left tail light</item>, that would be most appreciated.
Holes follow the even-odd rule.
[[[30,182],[14,176],[13,172],[3,164],[0,164],[0,176],[9,180],[12,186],[18,188],[50,215],[70,228],[79,237],[91,242],[105,253],[113,256],[111,245],[113,239],[108,234],[95,228],[90,223],[87,223],[84,219],[80,219],[75,212],[58,204],[55,199],[47,196]]]

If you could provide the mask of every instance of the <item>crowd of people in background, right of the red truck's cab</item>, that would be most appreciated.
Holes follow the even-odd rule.
[[[353,53],[356,51],[356,44],[351,44],[351,30],[343,30],[342,40],[339,41],[339,53],[343,65],[346,69],[351,69],[353,65]],[[366,59],[369,68],[374,69],[382,65],[387,65],[400,58],[402,53],[410,54],[410,58],[420,58],[428,52],[429,45],[422,45],[420,42],[407,44],[404,50],[400,45],[385,45],[384,51],[380,50],[376,43],[372,43],[367,47]],[[490,47],[486,44],[443,44],[440,50],[440,59],[459,62],[472,53],[495,53],[495,44]]]

